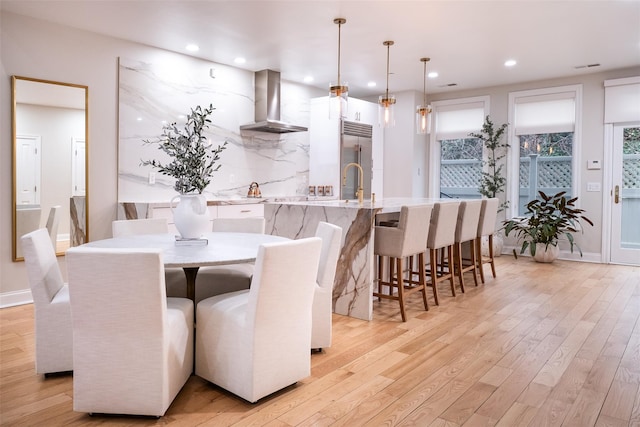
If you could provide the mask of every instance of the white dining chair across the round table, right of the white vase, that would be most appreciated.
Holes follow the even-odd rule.
[[[214,218],[212,231],[264,234],[263,217]],[[201,267],[196,276],[196,304],[218,294],[249,289],[253,263]]]

